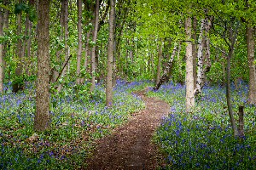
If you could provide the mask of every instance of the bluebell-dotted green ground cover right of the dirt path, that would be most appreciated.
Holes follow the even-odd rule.
[[[245,138],[235,139],[223,87],[205,87],[193,113],[185,113],[185,87],[168,83],[149,96],[166,100],[172,107],[154,142],[166,156],[162,169],[255,169],[256,108],[247,105],[247,85],[232,88],[234,113],[245,106]],[[237,114],[236,114],[237,115]],[[237,120],[237,116],[236,116]]]

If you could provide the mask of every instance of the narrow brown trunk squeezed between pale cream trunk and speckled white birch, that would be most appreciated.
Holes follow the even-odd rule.
[[[194,77],[194,80],[196,80],[196,59],[198,58],[198,55],[197,55],[197,37],[196,37],[196,26],[197,26],[197,20],[196,20],[196,17],[193,17],[193,34],[192,34],[192,38],[194,40],[193,44],[192,44],[192,54],[193,54],[193,77]],[[199,41],[199,40],[198,40]],[[194,81],[194,88],[196,87],[196,81]]]

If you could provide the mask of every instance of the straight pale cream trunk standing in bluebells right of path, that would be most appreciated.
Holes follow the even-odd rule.
[[[194,96],[194,69],[193,69],[193,54],[191,42],[191,18],[185,20],[185,33],[187,40],[186,47],[186,111],[192,111],[195,106]]]

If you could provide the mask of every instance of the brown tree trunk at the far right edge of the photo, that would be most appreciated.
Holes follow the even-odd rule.
[[[248,103],[256,105],[256,68],[254,65],[254,29],[247,26],[247,60],[249,66],[249,92]]]

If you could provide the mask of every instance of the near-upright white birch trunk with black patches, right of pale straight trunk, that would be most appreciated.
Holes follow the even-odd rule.
[[[198,37],[198,52],[197,52],[197,59],[198,59],[198,63],[197,63],[197,77],[196,77],[196,86],[195,86],[195,96],[198,96],[201,94],[201,87],[202,87],[202,82],[201,82],[201,78],[202,78],[202,74],[203,74],[203,59],[202,59],[202,35],[203,35],[203,31],[204,31],[204,23],[205,20],[202,19],[201,20],[201,28],[200,28],[200,35]]]

